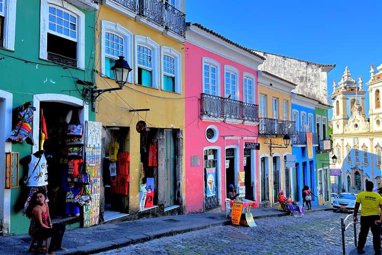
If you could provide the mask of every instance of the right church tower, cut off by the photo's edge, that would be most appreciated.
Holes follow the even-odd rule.
[[[378,73],[375,74],[374,65],[370,67],[369,86],[369,116],[370,116],[370,132],[382,131],[382,64],[377,68]]]

